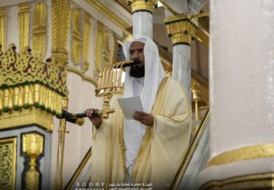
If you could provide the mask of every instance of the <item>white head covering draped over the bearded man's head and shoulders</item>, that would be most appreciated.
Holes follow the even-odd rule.
[[[143,103],[144,111],[150,113],[156,98],[157,89],[161,83],[161,80],[165,77],[165,73],[159,59],[157,45],[146,36],[136,36],[134,40],[123,44],[124,56],[126,59],[130,59],[129,47],[131,43],[136,41],[145,43],[145,81],[143,91],[140,94],[140,99]],[[129,75],[129,70],[130,68],[127,67],[126,78],[124,81],[124,97],[134,96],[132,89],[133,78]]]

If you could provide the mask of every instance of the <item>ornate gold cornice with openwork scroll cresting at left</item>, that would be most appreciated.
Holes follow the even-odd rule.
[[[62,114],[66,70],[32,56],[29,47],[0,50],[0,129],[38,124],[52,131],[52,115]]]

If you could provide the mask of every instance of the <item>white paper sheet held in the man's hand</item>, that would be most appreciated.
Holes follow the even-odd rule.
[[[134,112],[143,112],[143,105],[140,96],[130,98],[118,98],[118,102],[126,119],[134,119]]]

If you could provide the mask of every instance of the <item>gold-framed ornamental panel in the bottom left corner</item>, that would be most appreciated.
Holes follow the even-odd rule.
[[[0,139],[0,189],[15,189],[17,138]]]

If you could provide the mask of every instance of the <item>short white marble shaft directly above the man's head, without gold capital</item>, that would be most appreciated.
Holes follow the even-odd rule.
[[[132,15],[134,36],[136,34],[152,39],[152,13],[148,11],[136,11]]]

